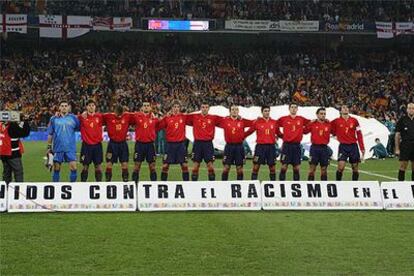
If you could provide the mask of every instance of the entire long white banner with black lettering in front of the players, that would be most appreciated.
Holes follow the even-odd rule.
[[[414,182],[0,183],[0,211],[414,210]]]

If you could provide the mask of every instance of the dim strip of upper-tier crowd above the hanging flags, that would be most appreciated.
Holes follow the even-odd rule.
[[[11,13],[325,21],[412,21],[414,3],[400,1],[273,0],[6,0]]]

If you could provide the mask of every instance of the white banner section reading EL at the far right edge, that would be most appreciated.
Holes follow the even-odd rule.
[[[381,194],[385,210],[414,210],[414,181],[382,182]]]

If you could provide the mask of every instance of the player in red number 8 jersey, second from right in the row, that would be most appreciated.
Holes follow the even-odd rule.
[[[311,133],[311,148],[309,160],[308,180],[315,180],[315,171],[318,164],[321,165],[321,180],[328,180],[328,165],[330,152],[328,144],[332,133],[331,123],[326,120],[326,109],[323,107],[316,110],[317,120],[312,121],[305,127],[305,134]]]

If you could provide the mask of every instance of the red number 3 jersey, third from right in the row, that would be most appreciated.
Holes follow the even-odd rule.
[[[303,138],[305,126],[310,122],[302,116],[283,116],[277,120],[279,127],[283,128],[283,142],[300,143]]]

